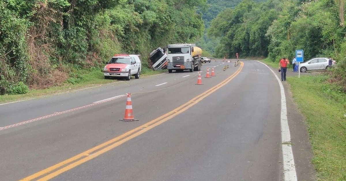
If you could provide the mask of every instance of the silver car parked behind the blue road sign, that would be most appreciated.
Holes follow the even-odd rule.
[[[313,58],[299,65],[300,72],[309,70],[326,70],[328,69],[328,58]]]

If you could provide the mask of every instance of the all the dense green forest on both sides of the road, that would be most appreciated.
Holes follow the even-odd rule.
[[[201,44],[214,57],[334,57],[346,90],[344,0],[0,0],[0,94],[58,86],[112,54]],[[212,20],[212,21],[211,21]],[[208,32],[209,37],[206,37]]]

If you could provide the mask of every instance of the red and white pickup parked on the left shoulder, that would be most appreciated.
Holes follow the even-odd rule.
[[[142,64],[139,56],[140,55],[115,54],[103,68],[104,78],[121,77],[130,80],[131,76],[135,76],[136,79],[139,79],[139,74],[142,71]]]

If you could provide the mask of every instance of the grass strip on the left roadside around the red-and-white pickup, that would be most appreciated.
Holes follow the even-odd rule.
[[[167,70],[152,71],[150,69],[143,69],[140,76],[143,78],[165,72],[167,72]],[[73,77],[66,80],[61,86],[50,87],[42,90],[29,90],[29,92],[26,94],[0,95],[0,103],[44,97],[47,95],[69,92],[115,82],[119,82],[119,80],[104,79],[103,72],[100,69],[79,70],[73,74]]]

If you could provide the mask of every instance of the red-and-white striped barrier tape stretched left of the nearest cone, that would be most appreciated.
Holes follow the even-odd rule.
[[[91,107],[91,106],[94,106],[94,105],[98,105],[98,104],[101,104],[101,103],[104,103],[104,102],[107,102],[107,101],[111,101],[113,99],[117,99],[119,97],[124,97],[124,96],[126,96],[126,95],[118,95],[118,96],[116,96],[114,98],[105,99],[104,101],[98,101],[98,102],[95,102],[95,103],[92,103],[92,104],[89,104],[89,105],[84,105],[84,106],[79,107],[79,108],[74,108],[74,109],[70,109],[70,110],[66,110],[66,111],[62,111],[62,112],[55,112],[53,114],[45,115],[45,116],[40,117],[40,118],[30,119],[30,120],[23,121],[23,122],[20,122],[20,123],[11,124],[11,125],[8,125],[8,126],[5,126],[5,127],[0,127],[0,131],[6,130],[6,129],[9,129],[9,128],[13,128],[13,127],[17,127],[19,125],[35,122],[35,121],[38,121],[38,120],[54,117],[56,115],[60,115],[60,114],[64,114],[64,113],[68,113],[68,112],[72,112],[72,111],[88,108],[88,107]]]

